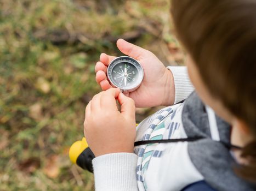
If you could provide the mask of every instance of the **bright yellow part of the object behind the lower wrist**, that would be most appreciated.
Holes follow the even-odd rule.
[[[72,163],[76,164],[76,160],[79,155],[88,147],[86,138],[83,138],[81,141],[74,142],[69,150],[69,158]]]

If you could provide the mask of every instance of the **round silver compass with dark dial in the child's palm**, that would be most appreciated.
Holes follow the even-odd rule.
[[[136,59],[129,56],[120,56],[107,67],[107,78],[114,87],[122,92],[132,92],[138,88],[143,80],[144,71]]]

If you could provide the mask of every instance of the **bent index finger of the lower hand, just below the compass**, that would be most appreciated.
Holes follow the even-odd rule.
[[[100,98],[101,108],[109,109],[109,110],[117,110],[116,98],[120,94],[120,89],[118,88],[110,88],[107,89]]]

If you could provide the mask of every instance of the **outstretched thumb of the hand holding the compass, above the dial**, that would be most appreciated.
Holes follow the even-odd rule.
[[[128,55],[138,60],[149,54],[149,51],[132,43],[128,43],[128,41],[123,39],[118,39],[116,45],[118,49],[125,55]]]

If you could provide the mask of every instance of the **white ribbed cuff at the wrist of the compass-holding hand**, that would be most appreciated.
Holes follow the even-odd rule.
[[[175,100],[174,104],[186,99],[192,91],[194,86],[192,85],[189,75],[187,74],[187,67],[167,67],[172,71],[175,87]]]

